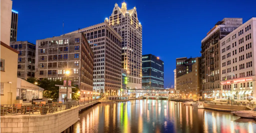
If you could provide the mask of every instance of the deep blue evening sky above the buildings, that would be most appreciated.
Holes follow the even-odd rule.
[[[19,12],[17,41],[44,39],[104,21],[122,0],[13,0]],[[164,61],[164,87],[174,85],[175,59],[198,57],[201,40],[225,17],[256,16],[256,1],[152,1],[125,0],[127,8],[136,5],[142,24],[142,54],[153,54]],[[219,3],[218,3],[219,2]]]

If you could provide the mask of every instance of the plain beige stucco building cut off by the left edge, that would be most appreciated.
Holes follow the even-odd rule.
[[[18,51],[10,45],[12,1],[1,1],[1,104],[16,103]],[[3,21],[4,20],[4,21]]]

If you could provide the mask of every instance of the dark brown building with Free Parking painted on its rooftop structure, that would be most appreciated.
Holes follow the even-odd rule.
[[[201,84],[204,94],[220,90],[220,42],[219,40],[242,25],[242,18],[224,18],[201,41]],[[222,44],[223,45],[223,44]]]

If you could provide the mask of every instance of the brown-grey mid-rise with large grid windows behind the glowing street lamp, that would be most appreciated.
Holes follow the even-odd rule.
[[[92,97],[93,51],[84,33],[36,40],[36,75],[38,79],[69,79],[80,88],[83,97]]]

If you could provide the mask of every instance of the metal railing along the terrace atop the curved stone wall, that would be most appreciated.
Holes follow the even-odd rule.
[[[2,115],[32,115],[32,114],[49,114],[62,110],[67,110],[73,107],[82,106],[99,99],[86,100],[80,102],[76,100],[61,102],[61,103],[49,103],[49,104],[2,104],[0,105],[0,114]]]

